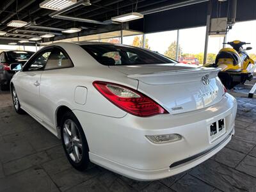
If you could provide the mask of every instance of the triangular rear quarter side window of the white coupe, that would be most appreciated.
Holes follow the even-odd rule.
[[[68,58],[68,56],[65,53],[61,52],[61,50],[58,48],[54,48],[51,55],[49,56],[49,59],[45,66],[45,70],[55,68],[67,68],[73,66],[74,65],[72,61]]]

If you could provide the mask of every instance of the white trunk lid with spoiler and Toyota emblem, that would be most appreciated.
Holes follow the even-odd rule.
[[[137,79],[138,90],[156,100],[169,113],[207,108],[223,98],[219,68],[193,67],[181,63],[110,67]]]

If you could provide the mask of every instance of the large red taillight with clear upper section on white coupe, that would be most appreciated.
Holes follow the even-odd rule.
[[[143,93],[120,84],[94,81],[93,86],[118,108],[136,116],[152,116],[168,113]]]

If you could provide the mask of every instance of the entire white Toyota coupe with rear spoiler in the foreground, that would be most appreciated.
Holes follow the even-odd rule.
[[[17,113],[61,138],[68,161],[136,180],[184,172],[234,134],[237,102],[218,68],[177,63],[137,47],[93,42],[40,49],[13,76]]]

